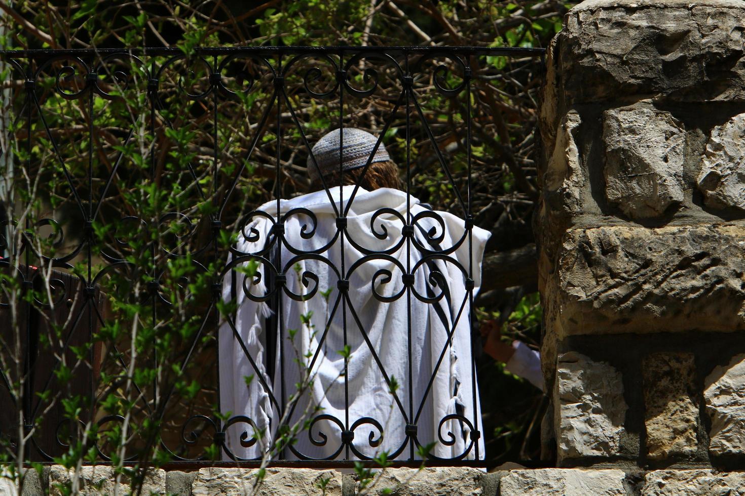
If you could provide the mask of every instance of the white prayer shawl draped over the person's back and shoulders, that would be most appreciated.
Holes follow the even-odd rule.
[[[343,187],[345,204],[348,203],[352,190],[351,186]],[[331,188],[329,193],[338,207],[340,188]],[[282,324],[283,342],[276,346],[277,350],[282,347],[284,355],[284,385],[280,380],[282,373],[279,352],[274,364],[273,381],[270,381],[264,363],[267,351],[265,318],[270,315],[271,311],[266,303],[257,303],[246,297],[243,289],[244,274],[240,272],[235,274],[238,303],[235,330],[258,370],[247,359],[243,347],[235,337],[232,326],[227,321],[223,321],[219,336],[221,410],[223,413],[229,412],[231,417],[247,416],[256,423],[259,429],[259,433],[256,433],[245,422],[235,423],[226,429],[226,445],[236,457],[261,457],[269,439],[276,434],[279,425],[281,410],[270,401],[269,393],[259,380],[259,376],[273,391],[276,402],[282,408],[287,399],[296,392],[295,384],[308,374],[302,372],[302,370],[308,370],[309,361],[305,358],[306,353],[313,355],[318,352],[317,359],[310,370],[313,378],[312,385],[298,402],[291,419],[285,423],[294,425],[299,421],[302,422],[303,419],[310,420],[319,415],[333,416],[337,422],[321,419],[311,425],[310,432],[307,428],[302,428],[301,424],[301,432],[297,443],[293,446],[295,451],[285,451],[285,456],[289,459],[296,458],[298,453],[315,459],[358,458],[353,451],[347,454],[346,450],[340,448],[341,431],[344,425],[348,425],[350,431],[353,432],[352,444],[360,454],[365,457],[374,457],[381,451],[387,451],[389,455],[396,454],[398,451],[396,456],[398,459],[410,457],[408,444],[399,450],[399,447],[405,444],[407,424],[416,423],[416,436],[422,445],[437,442],[430,453],[442,458],[460,457],[472,443],[471,428],[460,418],[448,419],[440,427],[440,422],[446,416],[457,414],[465,416],[471,424],[478,422],[478,430],[483,431],[478,393],[474,397],[474,392],[478,391],[478,387],[472,380],[470,309],[466,292],[466,277],[468,277],[470,253],[475,295],[481,286],[481,259],[489,232],[474,227],[471,236],[472,249],[469,249],[469,239],[463,219],[447,212],[433,212],[422,207],[413,196],[408,198],[411,216],[416,218],[417,215],[422,214],[416,220],[413,233],[414,239],[421,245],[430,247],[431,238],[437,238],[437,245],[439,245],[437,249],[446,250],[461,242],[465,236],[460,246],[447,257],[459,263],[466,274],[463,274],[457,265],[446,263],[439,258],[431,260],[429,264],[422,264],[414,273],[411,289],[422,297],[427,297],[428,294],[432,296],[443,291],[440,288],[442,284],[433,286],[432,279],[434,278],[431,279],[432,268],[440,271],[447,282],[449,303],[446,297],[435,303],[425,303],[417,299],[413,292],[410,292],[408,296],[405,292],[405,281],[402,280],[402,271],[390,258],[377,257],[361,263],[349,274],[349,301],[354,312],[349,308],[349,304],[346,304],[345,313],[343,312],[343,297],[340,297],[337,289],[339,277],[332,268],[326,263],[307,257],[292,263],[290,260],[295,254],[283,246],[279,271],[285,271],[286,289],[295,294],[307,294],[313,289],[313,280],[306,281],[307,287],[302,283],[305,271],[317,276],[319,289],[313,297],[305,301],[292,300],[285,292],[281,292],[281,303],[279,309],[276,310],[279,315],[276,317]],[[336,236],[337,214],[326,191],[309,193],[279,202],[280,216],[296,208],[305,208],[315,214],[317,217],[316,231],[313,236],[305,239],[302,234],[305,233],[307,236],[313,229],[310,217],[302,213],[289,215],[285,218],[284,234],[288,245],[303,251],[317,250],[323,248]],[[347,232],[351,239],[345,239],[343,242],[344,271],[349,272],[352,265],[365,256],[363,251],[352,245],[352,241],[371,251],[384,251],[395,247],[402,241],[402,219],[391,213],[383,213],[373,219],[375,212],[381,208],[393,209],[402,219],[405,219],[407,194],[390,188],[381,188],[372,192],[358,190],[346,220]],[[276,219],[276,201],[268,202],[258,210]],[[442,219],[443,225],[431,217],[433,213]],[[371,230],[371,222],[378,236],[375,236]],[[252,222],[244,228],[244,233],[258,232],[258,239],[249,242],[241,236],[236,248],[247,254],[263,251],[267,240],[273,239],[273,234],[270,233],[272,225],[272,220],[263,216],[255,216]],[[431,231],[433,229],[434,231]],[[383,233],[386,233],[384,239],[378,239]],[[339,271],[342,267],[341,249],[340,239],[337,238],[327,250],[321,253],[321,256],[329,260]],[[409,255],[408,252],[410,252]],[[270,254],[266,254],[265,257],[272,261]],[[397,260],[402,267],[413,270],[416,263],[422,260],[422,252],[415,248],[413,242],[410,243],[409,248],[407,242],[403,242],[400,248],[390,254],[390,257]],[[261,282],[252,285],[253,278],[249,277],[246,284],[251,294],[254,295],[267,292],[264,283],[269,273],[262,265],[259,265],[258,271],[261,273]],[[378,271],[390,271],[390,282],[385,283],[384,273]],[[376,273],[378,273],[377,277]],[[402,291],[404,293],[390,303],[381,302],[373,294],[373,280],[375,291],[382,296],[392,296]],[[321,292],[329,289],[331,292],[326,299]],[[230,271],[224,279],[223,299],[226,301],[231,299]],[[329,315],[337,300],[339,303],[331,319],[328,333],[321,349],[318,350]],[[436,311],[436,306],[442,309],[440,315]],[[311,312],[312,328],[303,325],[300,318],[301,315],[309,315]],[[230,318],[232,319],[233,315]],[[448,323],[449,329],[446,329],[443,318]],[[343,376],[344,358],[339,353],[340,350],[344,350],[345,320],[346,344],[351,351],[346,373],[348,381],[346,389]],[[381,367],[378,366],[370,346],[364,339],[358,321],[364,333],[367,334],[370,345],[388,378],[398,384],[395,393],[400,406],[390,393],[390,387],[384,379]],[[409,321],[410,328],[407,325]],[[453,332],[448,345],[448,330],[450,329]],[[292,339],[291,334],[294,335]],[[275,339],[279,341],[279,338]],[[445,350],[444,353],[443,350]],[[442,363],[437,368],[437,372],[434,372],[441,354],[443,355]],[[303,369],[298,361],[305,364]],[[410,414],[417,416],[420,402],[425,397],[425,391],[433,374],[434,380],[421,413],[416,421],[413,421]],[[248,385],[246,377],[253,377]],[[284,387],[284,401],[282,387]],[[413,397],[413,405],[410,404],[410,393]],[[345,396],[349,405],[346,412]],[[314,410],[309,405],[317,405],[318,408]],[[379,422],[384,431],[382,439],[378,427],[366,422],[366,417]],[[355,425],[355,422],[359,425]],[[438,427],[440,427],[439,432]],[[243,434],[244,443],[251,442],[255,435],[259,438],[258,442],[250,447],[241,446],[241,434]],[[444,443],[440,442],[441,440]],[[478,439],[478,453],[480,458],[484,457],[483,438]],[[416,451],[413,456],[416,459],[420,458]],[[465,458],[475,458],[475,445],[471,446]]]

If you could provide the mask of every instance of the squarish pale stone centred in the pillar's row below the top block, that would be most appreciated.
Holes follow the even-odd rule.
[[[685,132],[669,112],[645,103],[603,113],[606,198],[633,219],[683,201]]]

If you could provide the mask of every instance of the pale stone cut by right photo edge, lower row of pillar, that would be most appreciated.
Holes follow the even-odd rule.
[[[715,456],[745,453],[745,355],[716,367],[704,381],[706,411],[711,417],[708,450]]]

